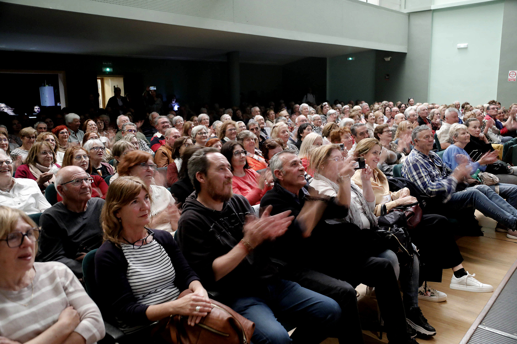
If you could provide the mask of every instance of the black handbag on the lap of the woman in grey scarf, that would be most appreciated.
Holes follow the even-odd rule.
[[[377,219],[377,230],[379,236],[385,238],[388,248],[397,254],[399,264],[406,266],[413,262],[413,245],[407,226],[406,215],[402,211],[387,213],[386,204],[381,206],[381,216]]]

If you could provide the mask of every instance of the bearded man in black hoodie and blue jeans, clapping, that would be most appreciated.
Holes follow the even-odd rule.
[[[339,305],[280,278],[261,243],[282,235],[293,218],[288,211],[269,216],[270,209],[255,218],[244,196],[233,194],[230,168],[213,148],[189,159],[195,192],[178,222],[181,251],[208,290],[220,292],[224,303],[255,322],[253,343],[320,343],[338,324]],[[297,327],[291,339],[277,318]]]

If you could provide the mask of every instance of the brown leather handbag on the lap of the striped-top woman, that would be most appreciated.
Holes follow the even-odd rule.
[[[184,290],[178,299],[191,292]],[[211,312],[194,326],[187,323],[188,316],[171,315],[158,323],[153,335],[173,344],[249,344],[255,323],[220,302],[210,303]]]

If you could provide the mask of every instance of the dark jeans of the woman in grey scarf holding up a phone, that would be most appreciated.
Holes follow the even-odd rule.
[[[415,245],[413,245],[413,248],[416,249]],[[399,265],[399,259],[397,258],[397,255],[391,250],[386,250],[377,255],[377,257],[388,259],[393,266],[395,275],[400,281],[400,287],[402,289],[403,295],[402,303],[404,304],[404,309],[406,312],[411,307],[418,307],[418,278],[420,274],[420,262],[418,260],[418,255],[413,254],[413,263],[403,267]]]

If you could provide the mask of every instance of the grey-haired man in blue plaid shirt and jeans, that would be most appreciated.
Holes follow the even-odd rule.
[[[434,139],[427,125],[413,129],[411,139],[415,149],[404,161],[402,176],[415,183],[421,194],[431,198],[427,212],[444,214],[444,208],[453,212],[474,207],[483,215],[499,221],[499,225],[508,228],[508,237],[517,238],[517,210],[489,186],[465,187],[462,182],[470,176],[470,168],[466,163],[461,163],[451,173],[442,159],[431,151]],[[447,203],[446,207],[443,206],[444,203]]]

